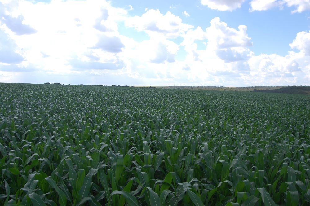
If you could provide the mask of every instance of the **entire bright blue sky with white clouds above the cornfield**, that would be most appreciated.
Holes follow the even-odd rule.
[[[310,0],[0,0],[0,82],[310,85]]]

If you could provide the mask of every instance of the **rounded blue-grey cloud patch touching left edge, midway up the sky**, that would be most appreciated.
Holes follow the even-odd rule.
[[[7,64],[21,63],[24,58],[16,52],[15,42],[0,29],[0,62]]]

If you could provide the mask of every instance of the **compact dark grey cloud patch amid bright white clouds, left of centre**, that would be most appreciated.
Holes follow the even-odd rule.
[[[112,53],[117,53],[122,51],[122,48],[124,48],[124,44],[122,43],[119,37],[115,36],[109,37],[106,35],[101,35],[99,37],[99,41],[93,48],[102,49]]]

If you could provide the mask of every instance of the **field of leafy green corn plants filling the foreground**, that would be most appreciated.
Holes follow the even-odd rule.
[[[309,205],[310,97],[0,84],[0,205]]]

